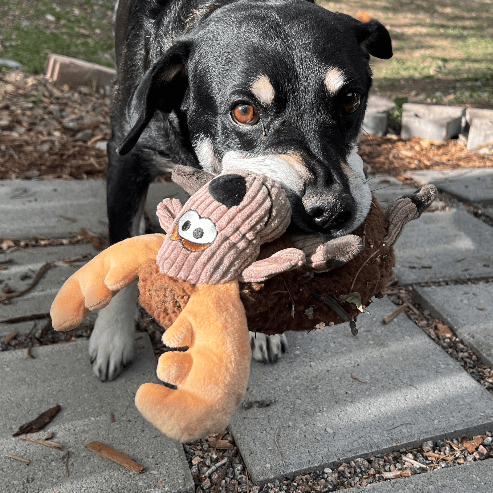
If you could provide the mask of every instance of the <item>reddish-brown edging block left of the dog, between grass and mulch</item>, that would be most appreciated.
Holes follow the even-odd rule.
[[[116,70],[104,65],[55,53],[48,55],[44,68],[46,77],[58,84],[68,84],[72,89],[87,85],[89,80],[92,81],[94,90],[100,87],[106,89],[107,86],[111,87],[111,81],[116,75]]]

